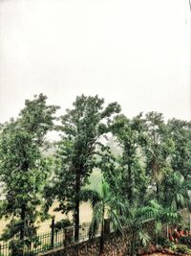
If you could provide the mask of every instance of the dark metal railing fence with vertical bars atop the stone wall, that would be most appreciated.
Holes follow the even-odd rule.
[[[76,242],[83,242],[89,240],[89,229],[90,223],[84,222],[79,226],[79,238]],[[100,235],[100,227],[96,232],[96,236]],[[54,230],[48,233],[42,233],[37,235],[36,240],[38,241],[37,244],[30,243],[30,245],[25,245],[22,255],[23,256],[33,256],[37,255],[40,252],[46,252],[50,249],[56,247],[67,246],[68,244],[74,243],[74,226],[70,226],[65,229],[61,230]],[[0,256],[12,256],[12,244],[11,243],[3,243],[0,242]],[[17,256],[17,254],[15,254]]]

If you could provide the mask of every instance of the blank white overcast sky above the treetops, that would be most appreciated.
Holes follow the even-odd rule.
[[[0,0],[0,122],[43,92],[190,119],[188,0]]]

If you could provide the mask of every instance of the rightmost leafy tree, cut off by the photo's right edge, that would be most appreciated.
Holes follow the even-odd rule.
[[[167,125],[175,144],[171,165],[176,174],[168,179],[168,182],[171,182],[175,189],[173,192],[171,191],[170,195],[176,207],[186,206],[190,211],[191,203],[188,192],[191,190],[191,122],[174,118],[169,120]],[[175,192],[178,192],[178,194],[176,195]]]

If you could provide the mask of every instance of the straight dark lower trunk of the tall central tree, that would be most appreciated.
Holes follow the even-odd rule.
[[[79,239],[79,198],[80,192],[80,175],[75,176],[75,202],[74,202],[74,241],[77,242]]]

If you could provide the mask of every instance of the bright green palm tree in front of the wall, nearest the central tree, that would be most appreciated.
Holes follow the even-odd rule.
[[[99,225],[101,225],[100,255],[104,255],[105,220],[109,219],[113,223],[114,229],[122,234],[122,221],[126,212],[125,205],[121,202],[121,198],[112,194],[108,183],[105,181],[102,181],[100,192],[84,189],[80,192],[79,197],[83,201],[89,200],[92,204],[93,218],[89,234],[91,238],[94,238]]]

